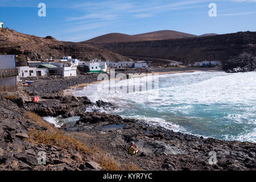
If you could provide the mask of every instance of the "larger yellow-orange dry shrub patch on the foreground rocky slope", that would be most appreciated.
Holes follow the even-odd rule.
[[[48,131],[31,130],[29,135],[37,143],[58,146],[64,150],[76,150],[81,154],[93,154],[94,147],[88,147],[75,138],[67,136],[64,132],[49,133]]]

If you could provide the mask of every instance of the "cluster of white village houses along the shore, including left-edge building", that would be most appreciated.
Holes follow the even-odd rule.
[[[3,92],[16,90],[17,83],[27,77],[47,76],[77,76],[77,67],[86,67],[90,73],[109,73],[111,68],[148,68],[145,61],[101,61],[94,58],[90,61],[72,59],[71,56],[63,56],[62,59],[50,59],[47,61],[27,61],[28,66],[16,67],[15,55],[0,55],[0,88]]]

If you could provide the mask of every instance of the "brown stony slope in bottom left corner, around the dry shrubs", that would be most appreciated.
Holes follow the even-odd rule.
[[[48,129],[24,118],[24,111],[15,102],[0,97],[0,171],[92,170],[85,166],[89,161],[86,156],[75,150],[27,140],[29,130]],[[42,152],[46,163],[40,163]],[[82,164],[85,167],[81,168]]]

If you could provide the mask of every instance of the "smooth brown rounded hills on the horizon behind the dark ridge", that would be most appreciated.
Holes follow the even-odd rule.
[[[127,34],[119,34],[112,33],[101,35],[96,38],[86,40],[86,43],[114,43],[114,42],[138,42],[138,41],[146,41],[146,40],[164,40],[164,39],[180,39],[180,38],[192,38],[196,37],[196,35],[185,34],[183,32],[171,31],[171,30],[162,30],[149,32],[146,34],[138,34],[138,35],[127,35]]]

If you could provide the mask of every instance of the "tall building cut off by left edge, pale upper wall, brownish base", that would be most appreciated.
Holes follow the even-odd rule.
[[[18,91],[15,55],[0,55],[0,92]]]

